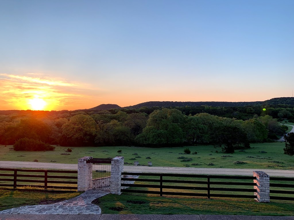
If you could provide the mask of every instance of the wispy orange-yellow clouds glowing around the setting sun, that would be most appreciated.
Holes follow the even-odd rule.
[[[53,79],[40,74],[0,74],[0,101],[17,109],[30,109],[29,100],[44,99],[47,110],[79,109],[80,103],[93,99],[99,90],[91,85]]]

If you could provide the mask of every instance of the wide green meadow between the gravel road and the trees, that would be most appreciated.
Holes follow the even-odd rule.
[[[236,150],[234,154],[221,153],[220,148],[214,148],[212,145],[190,146],[191,152],[197,154],[179,154],[183,153],[186,147],[176,148],[143,148],[143,147],[72,147],[70,155],[61,155],[65,153],[67,147],[56,146],[54,151],[14,151],[12,145],[0,145],[0,160],[9,161],[30,161],[34,159],[46,163],[70,163],[76,164],[78,158],[83,156],[93,156],[94,158],[113,158],[123,156],[124,161],[133,164],[133,161],[139,161],[141,165],[147,165],[148,161],[153,166],[170,167],[208,167],[208,168],[264,168],[264,169],[288,169],[294,170],[294,157],[284,154],[284,143],[258,143],[251,144],[251,149],[245,151]],[[122,150],[122,153],[117,153]],[[267,153],[264,153],[267,152]],[[138,155],[133,155],[137,153]],[[192,160],[181,162],[178,157],[187,157]],[[140,157],[140,158],[138,158]],[[150,157],[151,159],[146,159]],[[135,158],[130,160],[131,158]],[[243,161],[245,164],[234,164],[236,161]],[[194,165],[192,165],[194,164]]]

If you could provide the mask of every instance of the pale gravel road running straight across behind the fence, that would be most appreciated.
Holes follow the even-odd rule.
[[[39,163],[39,162],[22,162],[22,161],[0,161],[0,167],[2,168],[34,168],[34,169],[47,169],[47,170],[49,169],[77,170],[78,169],[77,164]],[[149,173],[252,176],[253,171],[264,171],[270,176],[294,177],[294,170],[124,166],[124,172],[149,172]]]

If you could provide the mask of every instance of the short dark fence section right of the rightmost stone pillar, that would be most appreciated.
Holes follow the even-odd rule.
[[[282,188],[294,188],[294,184],[281,184],[281,183],[272,183],[275,181],[292,181],[294,183],[294,178],[289,178],[289,177],[270,177],[270,188],[272,187],[282,187]],[[270,194],[294,194],[294,190],[274,190],[270,189]],[[278,199],[278,200],[290,200],[294,201],[294,197],[285,197],[283,196],[271,196],[270,199]]]

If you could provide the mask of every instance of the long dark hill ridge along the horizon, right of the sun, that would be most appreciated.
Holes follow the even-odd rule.
[[[294,105],[293,97],[273,98],[266,101],[148,101],[140,104],[120,107],[115,104],[101,104],[89,110],[108,110],[108,109],[139,109],[141,107],[185,107],[185,106],[216,106],[216,107],[238,107],[256,105]]]

